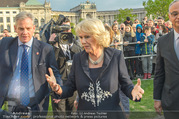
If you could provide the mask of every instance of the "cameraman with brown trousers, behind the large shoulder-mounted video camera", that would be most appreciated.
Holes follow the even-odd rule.
[[[71,27],[70,27],[70,20],[68,18],[64,18],[62,25],[66,26],[69,29],[62,30],[63,33],[71,33]],[[61,38],[61,37],[60,37]],[[71,69],[73,55],[81,52],[82,47],[79,45],[77,40],[73,37],[72,42],[69,40],[69,43],[64,44],[62,43],[63,39],[60,39],[57,37],[55,33],[53,33],[50,37],[49,41],[57,41],[54,44],[54,50],[55,50],[55,57],[57,60],[58,68],[60,71],[60,74],[62,75],[62,81],[63,84],[66,84],[68,79],[68,74]],[[76,111],[76,108],[73,106],[74,101],[76,99],[77,92],[74,93],[72,97],[66,98],[66,99],[56,99],[54,97],[54,94],[52,93],[52,108],[53,108],[53,115],[54,117],[58,117],[61,114],[64,115],[70,115],[71,111]]]

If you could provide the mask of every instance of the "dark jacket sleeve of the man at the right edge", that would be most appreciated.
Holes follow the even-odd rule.
[[[158,41],[157,45],[157,58],[156,58],[156,69],[154,77],[154,99],[161,100],[163,85],[165,82],[165,69],[164,69],[164,59],[161,56],[161,39]]]

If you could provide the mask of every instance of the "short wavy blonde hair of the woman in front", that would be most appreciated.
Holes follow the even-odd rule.
[[[92,35],[98,44],[103,47],[109,47],[110,45],[110,34],[105,29],[102,21],[97,18],[81,21],[77,24],[75,31],[77,36],[79,36],[80,33]]]

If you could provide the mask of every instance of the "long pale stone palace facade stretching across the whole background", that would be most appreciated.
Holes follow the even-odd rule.
[[[110,25],[115,20],[115,16],[119,14],[118,10],[97,11],[96,4],[88,0],[70,9],[70,11],[53,11],[50,2],[46,2],[46,0],[43,4],[38,0],[0,0],[0,3],[2,3],[0,4],[0,32],[3,29],[8,29],[12,34],[15,34],[14,18],[21,11],[31,12],[34,15],[34,24],[37,30],[51,18],[58,17],[59,14],[68,17],[74,24],[77,24],[81,19],[99,18]],[[133,9],[132,14],[136,14],[137,18],[142,20],[146,11],[143,8]]]

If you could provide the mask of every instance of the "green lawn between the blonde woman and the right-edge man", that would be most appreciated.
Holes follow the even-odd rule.
[[[134,84],[137,80],[133,81]],[[149,119],[157,116],[153,100],[153,80],[141,80],[144,94],[140,102],[130,100],[130,119]]]

